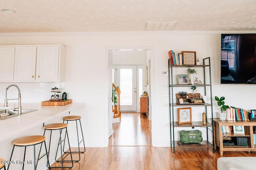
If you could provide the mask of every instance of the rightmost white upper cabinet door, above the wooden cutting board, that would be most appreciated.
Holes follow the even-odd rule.
[[[38,81],[58,81],[59,45],[38,46]]]

